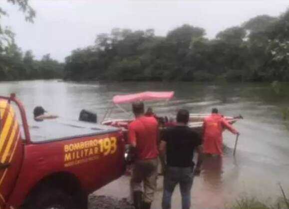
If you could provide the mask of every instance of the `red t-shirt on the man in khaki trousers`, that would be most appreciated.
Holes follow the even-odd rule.
[[[136,143],[139,160],[153,159],[158,156],[158,132],[158,122],[154,117],[141,116],[128,125],[128,142]]]

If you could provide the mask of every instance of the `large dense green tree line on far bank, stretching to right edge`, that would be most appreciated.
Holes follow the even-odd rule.
[[[153,29],[112,29],[66,57],[66,80],[289,81],[289,9],[259,15],[220,31],[184,24],[157,36]]]

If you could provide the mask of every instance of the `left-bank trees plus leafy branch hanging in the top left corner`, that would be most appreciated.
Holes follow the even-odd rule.
[[[33,22],[35,11],[28,0],[7,0],[18,6],[25,20]],[[7,15],[0,7],[0,20]],[[50,54],[36,60],[31,50],[23,52],[15,43],[15,34],[9,27],[0,24],[0,81],[62,78],[64,64],[54,60]]]

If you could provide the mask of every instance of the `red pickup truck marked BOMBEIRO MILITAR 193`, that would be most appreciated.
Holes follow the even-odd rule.
[[[118,128],[80,121],[27,123],[0,96],[0,209],[85,209],[87,196],[125,171]]]

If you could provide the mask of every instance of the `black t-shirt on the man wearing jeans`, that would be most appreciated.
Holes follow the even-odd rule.
[[[172,167],[191,167],[194,149],[202,143],[200,135],[187,126],[168,128],[162,140],[167,143],[167,165]]]

